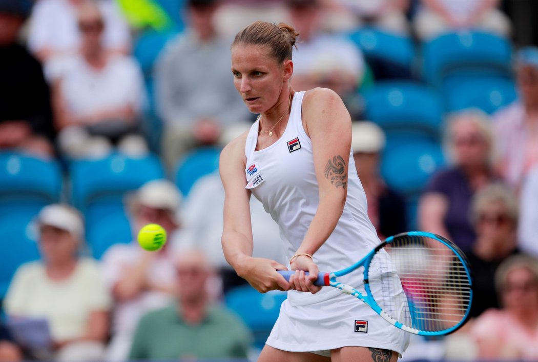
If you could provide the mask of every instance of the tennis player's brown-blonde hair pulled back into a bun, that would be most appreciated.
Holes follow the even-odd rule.
[[[231,47],[241,45],[263,45],[270,49],[271,56],[279,63],[292,59],[293,46],[299,33],[286,23],[267,23],[258,20],[239,31]],[[296,46],[295,46],[296,47]]]

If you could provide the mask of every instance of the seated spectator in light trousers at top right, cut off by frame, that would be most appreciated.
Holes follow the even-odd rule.
[[[508,37],[511,24],[499,0],[422,0],[414,16],[416,35],[429,40],[443,32],[482,30]]]

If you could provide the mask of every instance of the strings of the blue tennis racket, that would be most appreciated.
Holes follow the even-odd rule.
[[[386,314],[423,331],[454,327],[471,302],[465,261],[441,242],[406,236],[378,250],[369,268],[370,290]]]

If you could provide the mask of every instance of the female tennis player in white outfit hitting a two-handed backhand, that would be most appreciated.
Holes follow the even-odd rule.
[[[348,110],[329,89],[295,92],[290,86],[298,35],[284,23],[254,22],[231,45],[235,87],[259,117],[221,154],[224,255],[262,293],[289,290],[259,361],[394,362],[407,345],[405,332],[356,298],[313,285],[318,270],[356,262],[379,239],[351,171]],[[252,257],[251,194],[280,226],[289,267],[296,270],[289,282],[276,272],[286,266]],[[360,286],[362,274],[344,282]]]

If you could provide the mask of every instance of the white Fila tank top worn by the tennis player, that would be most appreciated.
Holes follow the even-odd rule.
[[[252,125],[245,144],[246,188],[278,223],[288,261],[305,238],[320,203],[312,142],[302,125],[304,94],[296,92],[293,96],[288,124],[277,142],[255,151],[258,119]],[[351,151],[344,212],[334,232],[314,255],[320,272],[334,272],[348,267],[379,243],[376,230],[367,217],[366,196],[355,172],[352,155]],[[256,228],[256,220],[252,220],[252,228]],[[342,281],[360,286],[362,273],[352,274],[348,280],[342,277]],[[292,290],[288,293],[288,299],[293,305],[303,305],[326,300],[338,293],[341,291],[335,288],[323,288],[316,294]]]

